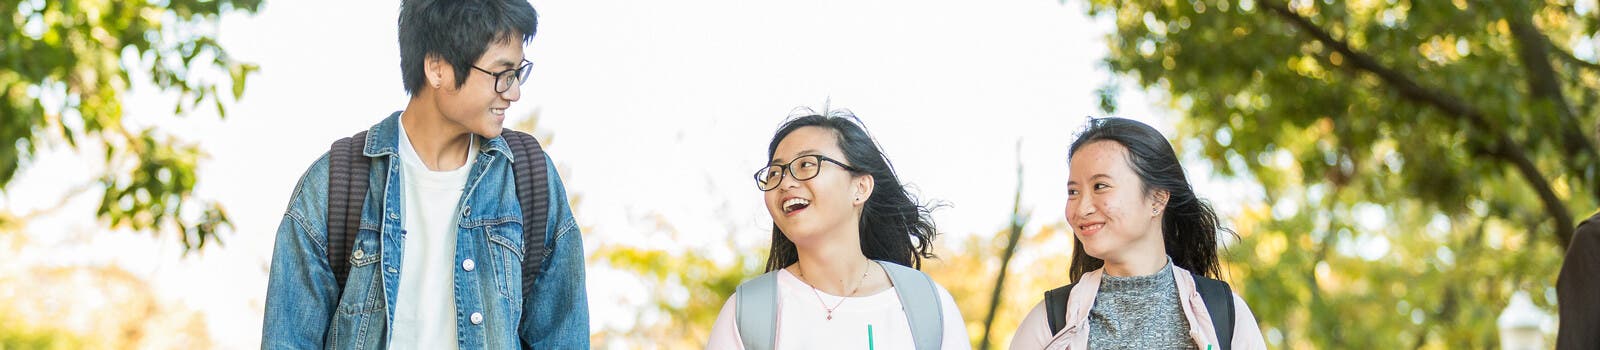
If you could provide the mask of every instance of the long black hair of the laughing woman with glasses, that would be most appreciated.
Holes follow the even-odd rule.
[[[856,171],[853,176],[872,174],[872,195],[867,197],[861,209],[861,253],[867,259],[901,264],[910,268],[922,268],[922,259],[933,259],[933,237],[938,230],[930,213],[933,206],[918,205],[917,198],[901,185],[894,176],[894,166],[883,155],[872,136],[867,134],[861,120],[850,110],[826,110],[824,113],[810,109],[795,109],[802,115],[790,118],[773,142],[766,147],[766,158],[771,160],[789,133],[798,128],[818,126],[834,131],[838,136],[838,149],[845,150],[845,160]],[[773,224],[773,248],[766,256],[766,272],[784,268],[800,261],[795,243],[784,237],[784,232]]]

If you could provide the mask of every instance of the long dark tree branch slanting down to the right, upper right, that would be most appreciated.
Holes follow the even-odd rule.
[[[1261,0],[1258,3],[1261,3],[1262,8],[1272,11],[1278,18],[1283,18],[1296,29],[1301,29],[1314,40],[1322,42],[1323,46],[1328,46],[1333,51],[1342,54],[1347,59],[1347,62],[1350,62],[1349,67],[1376,75],[1386,85],[1397,89],[1402,97],[1410,99],[1413,102],[1434,105],[1435,109],[1440,109],[1446,115],[1454,115],[1458,118],[1462,118],[1474,128],[1493,134],[1486,155],[1510,163],[1517,169],[1517,173],[1522,174],[1523,181],[1528,182],[1528,187],[1533,187],[1533,190],[1539,195],[1539,201],[1544,203],[1546,211],[1549,211],[1550,217],[1555,219],[1557,240],[1560,241],[1562,249],[1566,249],[1566,246],[1571,243],[1574,230],[1573,216],[1571,213],[1566,213],[1566,205],[1563,205],[1562,198],[1555,195],[1555,190],[1550,187],[1550,182],[1544,179],[1544,173],[1541,173],[1539,168],[1533,165],[1533,160],[1528,158],[1528,152],[1522,147],[1522,144],[1517,144],[1515,141],[1510,139],[1509,134],[1499,131],[1501,128],[1496,128],[1493,123],[1490,123],[1488,117],[1482,110],[1462,102],[1454,96],[1448,96],[1443,91],[1426,88],[1416,80],[1405,77],[1405,74],[1400,74],[1398,70],[1379,64],[1371,56],[1355,51],[1354,48],[1350,48],[1349,43],[1334,38],[1331,34],[1328,34],[1328,30],[1317,27],[1317,24],[1312,24],[1310,19],[1299,16],[1298,13],[1285,6],[1282,2]]]

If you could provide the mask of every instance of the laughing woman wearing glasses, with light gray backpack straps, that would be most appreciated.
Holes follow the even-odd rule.
[[[728,297],[706,347],[971,348],[950,292],[914,270],[933,257],[928,208],[848,110],[794,115],[755,174],[768,273]]]

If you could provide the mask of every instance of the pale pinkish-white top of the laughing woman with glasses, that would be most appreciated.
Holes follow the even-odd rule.
[[[944,313],[944,345],[941,348],[973,348],[966,334],[966,321],[962,310],[955,307],[955,299],[944,286],[939,289],[939,308]],[[901,310],[899,294],[894,288],[872,296],[838,297],[811,289],[789,270],[778,272],[778,344],[774,348],[914,348],[910,324],[906,312]],[[834,320],[827,320],[827,307],[845,299],[834,308]],[[706,348],[744,348],[734,321],[734,292],[722,304],[717,324],[710,328],[710,339]],[[872,326],[872,347],[867,345],[867,326]]]

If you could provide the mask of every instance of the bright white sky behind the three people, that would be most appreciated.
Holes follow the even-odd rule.
[[[1059,222],[1067,144],[1083,117],[1101,113],[1094,89],[1109,78],[1099,64],[1106,26],[1085,18],[1078,2],[534,6],[539,34],[526,51],[534,70],[509,115],[539,110],[541,128],[554,131],[547,150],[563,166],[568,193],[581,198],[589,253],[600,245],[720,246],[730,232],[741,246],[765,245],[771,221],[750,174],[789,110],[826,99],[866,121],[923,200],[952,205],[934,214],[946,240],[1006,225],[1019,157],[1022,203],[1035,213],[1029,230]],[[130,123],[162,125],[211,153],[197,195],[230,211],[237,232],[227,246],[179,259],[170,233],[64,238],[101,232],[90,219],[98,195],[85,193],[27,227],[50,248],[19,261],[120,264],[150,278],[165,299],[206,312],[221,345],[256,347],[272,238],[294,182],[334,139],[405,105],[397,13],[394,2],[267,2],[254,16],[224,18],[222,45],[262,69],[222,121],[211,110],[163,117],[174,97],[136,85]],[[1171,136],[1170,118],[1142,96],[1123,93],[1118,113]],[[53,205],[91,181],[93,160],[46,150],[13,182],[8,206]],[[1218,198],[1226,189],[1200,189],[1229,203]],[[642,288],[626,288],[638,283],[626,273],[590,264],[589,283],[595,329],[627,326],[630,307],[645,302]]]

